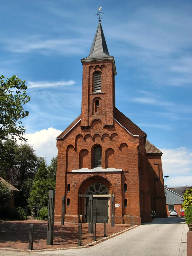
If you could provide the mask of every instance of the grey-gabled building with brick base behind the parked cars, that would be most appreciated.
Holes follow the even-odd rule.
[[[176,188],[179,188],[179,189],[176,189]],[[166,196],[166,205],[167,205],[167,215],[168,216],[169,216],[170,210],[176,210],[178,216],[180,216],[180,213],[183,209],[182,204],[184,202],[184,199],[183,199],[182,195],[177,194],[173,190],[176,190],[180,194],[183,194],[182,188],[183,187],[174,187],[174,188],[171,187],[171,189],[170,189],[170,188],[166,187],[166,185],[165,185],[165,196]]]

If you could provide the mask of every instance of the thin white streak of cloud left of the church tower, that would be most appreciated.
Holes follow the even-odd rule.
[[[69,81],[57,81],[57,82],[48,82],[48,81],[37,81],[37,82],[28,82],[28,88],[40,88],[40,87],[56,87],[56,86],[66,86],[73,85],[76,82],[73,80]]]

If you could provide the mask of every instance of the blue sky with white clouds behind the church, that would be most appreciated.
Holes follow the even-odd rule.
[[[168,186],[192,185],[190,1],[1,1],[0,73],[25,79],[38,155],[81,113],[82,64],[98,25],[115,57],[116,107],[164,154]]]

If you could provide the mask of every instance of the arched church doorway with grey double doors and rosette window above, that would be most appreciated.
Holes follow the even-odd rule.
[[[93,195],[93,220],[103,222],[109,219],[109,188],[102,183],[93,183],[86,189],[86,195]],[[89,197],[85,197],[85,222],[89,220]]]

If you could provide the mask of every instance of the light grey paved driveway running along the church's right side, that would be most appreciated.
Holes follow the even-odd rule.
[[[187,225],[183,217],[157,218],[89,248],[21,253],[0,251],[0,256],[186,256]],[[44,255],[42,255],[44,254]]]

